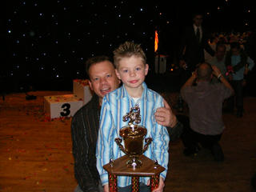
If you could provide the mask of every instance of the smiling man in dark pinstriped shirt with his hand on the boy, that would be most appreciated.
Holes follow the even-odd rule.
[[[71,122],[74,175],[78,181],[75,191],[99,192],[103,189],[96,167],[95,150],[102,98],[105,94],[117,89],[120,82],[114,72],[113,63],[106,56],[88,59],[86,73],[89,75],[89,85],[90,89],[94,91],[94,95],[90,102],[74,114]],[[162,126],[169,126],[170,134],[172,131],[175,134],[176,130],[182,130],[182,124],[178,122],[166,102],[165,106],[166,108],[158,108],[155,119]]]

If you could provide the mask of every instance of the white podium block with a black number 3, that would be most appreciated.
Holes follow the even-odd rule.
[[[44,97],[44,110],[50,118],[71,117],[82,107],[82,99],[74,94]]]

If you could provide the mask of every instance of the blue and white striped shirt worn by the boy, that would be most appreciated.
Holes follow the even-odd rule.
[[[97,168],[100,174],[102,185],[108,183],[108,174],[103,166],[110,162],[110,158],[117,159],[124,155],[119,149],[114,138],[120,138],[119,130],[127,126],[127,122],[122,121],[122,116],[130,112],[130,108],[138,104],[142,121],[139,125],[147,129],[146,138],[153,138],[149,148],[144,155],[153,160],[158,160],[158,164],[165,167],[160,176],[166,178],[169,162],[169,134],[166,127],[160,126],[154,119],[154,112],[158,107],[163,106],[162,96],[153,90],[147,89],[146,83],[142,84],[144,90],[138,102],[127,93],[125,86],[106,94],[102,101],[100,127],[98,130],[98,142],[96,147]],[[123,141],[122,141],[122,145]],[[140,178],[140,182],[146,184],[149,178]],[[118,186],[129,186],[131,178],[126,176],[118,177]]]

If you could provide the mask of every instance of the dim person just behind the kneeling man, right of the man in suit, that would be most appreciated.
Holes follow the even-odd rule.
[[[212,60],[210,60],[210,65],[217,66],[224,77],[226,77],[225,54],[226,46],[224,44],[217,44],[215,56]],[[213,82],[219,82],[218,78],[214,77]]]

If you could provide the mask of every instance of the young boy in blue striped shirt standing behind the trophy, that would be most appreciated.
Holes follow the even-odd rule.
[[[141,123],[147,129],[146,138],[153,138],[144,155],[157,160],[166,170],[160,174],[158,191],[163,189],[169,161],[169,135],[166,127],[160,126],[154,119],[155,110],[163,106],[160,94],[147,88],[144,79],[149,66],[142,48],[134,42],[125,42],[114,50],[114,65],[116,74],[122,80],[122,86],[106,94],[102,101],[100,128],[96,149],[97,168],[104,190],[108,191],[108,174],[103,166],[110,162],[110,158],[117,159],[125,155],[114,142],[120,138],[119,130],[127,126],[122,117],[136,104],[140,107]],[[131,178],[118,177],[118,191],[130,191]],[[149,178],[140,178],[140,191],[150,191]]]

